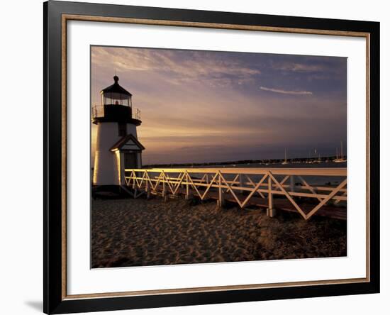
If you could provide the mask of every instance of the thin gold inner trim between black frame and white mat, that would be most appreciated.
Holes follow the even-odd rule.
[[[366,277],[338,280],[320,280],[320,281],[299,281],[299,282],[279,282],[271,284],[240,284],[218,287],[193,287],[182,289],[155,289],[146,291],[129,291],[129,292],[104,292],[91,294],[67,294],[67,21],[91,21],[91,22],[106,22],[106,23],[133,23],[155,26],[182,26],[196,28],[220,28],[239,31],[264,31],[264,32],[279,32],[279,33],[299,33],[299,34],[314,34],[314,35],[336,35],[349,37],[362,37],[366,40]],[[84,16],[74,14],[62,14],[62,300],[69,299],[91,299],[91,298],[111,298],[111,297],[135,297],[143,295],[160,295],[160,294],[184,294],[195,292],[215,292],[215,291],[231,291],[236,289],[265,289],[275,287],[294,287],[294,286],[311,286],[311,285],[328,285],[328,284],[348,284],[369,282],[369,33],[353,32],[353,31],[333,31],[333,30],[316,30],[306,28],[282,28],[269,26],[249,26],[236,24],[220,24],[220,23],[200,23],[186,21],[165,21],[152,20],[143,18],[116,18],[105,16]]]

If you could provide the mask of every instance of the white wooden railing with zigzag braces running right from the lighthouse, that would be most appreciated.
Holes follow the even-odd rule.
[[[328,184],[310,184],[308,177],[339,179]],[[126,185],[135,198],[141,194],[184,194],[201,200],[214,198],[223,206],[226,197],[240,208],[251,199],[267,201],[267,213],[274,215],[274,196],[285,197],[291,206],[308,220],[327,204],[347,201],[346,168],[161,168],[126,169]],[[321,181],[321,180],[320,180]],[[316,199],[318,204],[307,210],[297,198]]]

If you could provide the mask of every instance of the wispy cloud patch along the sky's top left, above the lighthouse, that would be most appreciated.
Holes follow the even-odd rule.
[[[155,72],[172,84],[208,82],[213,87],[228,87],[252,82],[260,74],[260,70],[242,60],[221,57],[216,52],[93,47],[91,54],[95,67],[104,65],[118,72]]]

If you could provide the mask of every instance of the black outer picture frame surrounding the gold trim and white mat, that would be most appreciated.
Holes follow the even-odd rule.
[[[271,16],[141,6],[48,1],[44,16],[44,272],[43,309],[46,314],[110,311],[163,306],[250,302],[272,299],[326,297],[379,292],[379,23],[327,18]],[[142,296],[67,299],[63,294],[66,263],[62,255],[64,221],[62,148],[62,16],[104,16],[235,26],[299,28],[369,34],[369,281],[310,286],[233,289],[216,292],[150,294]]]

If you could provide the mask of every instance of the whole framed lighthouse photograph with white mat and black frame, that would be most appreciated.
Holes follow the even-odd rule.
[[[379,23],[43,8],[45,313],[379,292]]]

